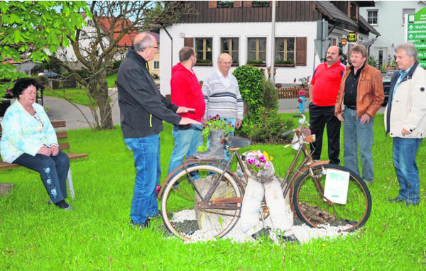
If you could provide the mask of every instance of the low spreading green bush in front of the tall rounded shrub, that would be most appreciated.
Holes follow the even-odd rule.
[[[256,143],[283,143],[282,134],[293,128],[293,119],[281,117],[276,110],[261,106],[256,121],[244,119],[243,126],[236,130],[239,136]]]

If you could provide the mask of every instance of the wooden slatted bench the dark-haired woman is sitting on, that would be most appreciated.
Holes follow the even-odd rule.
[[[51,123],[53,128],[62,128],[67,126],[67,123],[65,121],[51,121]],[[58,139],[67,138],[68,133],[67,131],[56,132],[56,137]],[[0,125],[0,139],[1,139],[1,125]],[[70,149],[70,143],[60,142],[59,148],[60,150],[68,150]],[[68,155],[68,157],[70,157],[70,160],[89,156],[89,154],[87,153],[66,153],[66,154]],[[7,162],[0,161],[0,170],[11,168],[11,167],[21,167],[21,165],[9,164]],[[70,170],[68,170],[67,180],[68,180],[68,190],[70,191],[70,196],[72,197],[72,199],[74,199],[75,193],[74,193],[74,185],[72,184],[71,168]]]

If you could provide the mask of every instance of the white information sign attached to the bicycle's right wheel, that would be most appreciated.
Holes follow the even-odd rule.
[[[325,175],[324,196],[337,204],[346,204],[348,197],[349,172],[327,170]]]

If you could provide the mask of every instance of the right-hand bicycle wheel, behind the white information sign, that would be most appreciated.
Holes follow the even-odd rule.
[[[329,170],[349,172],[346,204],[333,203],[324,197]],[[370,216],[371,195],[364,180],[355,172],[339,165],[319,165],[312,167],[312,173],[307,170],[297,179],[293,204],[299,218],[312,228],[330,224],[342,231],[352,231],[363,226]]]

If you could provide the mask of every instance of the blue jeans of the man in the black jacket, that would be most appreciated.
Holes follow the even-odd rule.
[[[160,135],[124,138],[124,143],[133,152],[136,168],[130,218],[136,224],[144,223],[148,216],[158,213],[155,188],[161,176]]]

